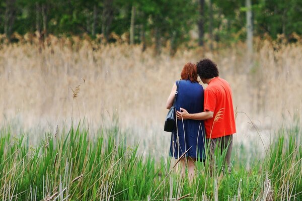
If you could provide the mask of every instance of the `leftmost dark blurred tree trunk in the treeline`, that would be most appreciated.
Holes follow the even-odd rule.
[[[11,41],[13,26],[16,19],[15,2],[16,0],[6,1],[6,10],[4,16],[4,33],[6,34],[6,37],[9,42]]]

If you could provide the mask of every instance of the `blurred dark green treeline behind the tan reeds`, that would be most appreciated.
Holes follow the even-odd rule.
[[[0,33],[118,37],[143,48],[169,42],[173,52],[196,33],[199,45],[253,35],[275,39],[302,34],[300,0],[1,0]],[[249,39],[251,40],[251,39]]]

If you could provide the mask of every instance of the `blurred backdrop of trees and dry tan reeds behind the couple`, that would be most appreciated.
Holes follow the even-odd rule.
[[[0,122],[33,143],[72,121],[117,124],[167,152],[172,85],[207,57],[232,86],[236,142],[265,147],[302,112],[301,13],[298,0],[1,0]]]

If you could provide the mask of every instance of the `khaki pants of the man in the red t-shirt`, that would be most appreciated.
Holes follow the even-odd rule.
[[[220,154],[226,149],[226,154],[224,158],[224,162],[226,165],[228,165],[228,172],[231,172],[231,154],[232,154],[232,148],[233,148],[233,135],[227,135],[220,138],[212,138],[207,139],[209,140],[209,150],[210,150],[210,157],[211,161],[214,159],[214,153],[216,147],[218,146],[218,151]],[[211,162],[212,163],[212,162]],[[213,164],[213,163],[212,163]]]

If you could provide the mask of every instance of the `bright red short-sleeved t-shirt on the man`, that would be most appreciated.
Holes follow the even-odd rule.
[[[214,112],[204,120],[206,138],[219,138],[236,133],[233,98],[230,84],[214,77],[204,90],[204,111]]]

